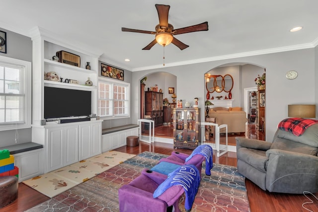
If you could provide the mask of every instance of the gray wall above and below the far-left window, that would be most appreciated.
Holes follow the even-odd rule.
[[[23,61],[32,62],[32,41],[31,38],[0,28],[6,32],[6,54],[0,53],[1,56],[15,58]],[[17,131],[17,143],[31,141],[31,128]],[[0,147],[14,145],[15,130],[0,131]]]

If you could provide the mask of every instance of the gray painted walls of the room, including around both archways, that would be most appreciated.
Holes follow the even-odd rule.
[[[5,29],[0,28],[0,30],[7,32],[7,54],[1,55],[31,62],[31,39]],[[137,119],[140,117],[140,80],[150,73],[163,71],[175,75],[177,99],[185,99],[193,104],[193,98],[199,97],[199,107],[202,107],[205,99],[204,73],[224,64],[245,63],[266,68],[266,140],[271,141],[277,124],[287,117],[288,104],[317,104],[318,87],[315,85],[318,80],[318,76],[315,74],[318,71],[315,63],[317,59],[318,47],[149,71],[125,70],[125,81],[131,83],[131,117],[105,120],[102,127],[110,128],[137,123]],[[242,70],[242,67],[239,70]],[[299,75],[296,79],[287,80],[285,78],[286,72],[290,70],[298,71]],[[246,86],[242,72],[241,82],[243,83],[240,83],[239,88],[241,92]],[[167,84],[163,86],[166,89]],[[164,92],[167,93],[167,91]],[[204,118],[203,113],[201,116],[201,119]],[[18,142],[31,141],[31,129],[18,130],[18,135]],[[0,138],[0,146],[15,144],[15,131],[0,131]]]

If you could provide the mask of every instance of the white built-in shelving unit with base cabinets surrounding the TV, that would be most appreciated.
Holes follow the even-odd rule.
[[[66,40],[58,40],[59,35],[40,27],[31,30],[30,35],[33,57],[32,142],[43,144],[44,167],[42,170],[48,172],[101,153],[102,120],[52,123],[43,126],[44,86],[91,91],[91,114],[96,114],[98,58],[101,54],[81,49]],[[78,55],[80,67],[53,61],[52,57],[59,51]],[[87,62],[90,63],[90,70],[85,69]],[[61,81],[46,80],[44,74],[51,71],[56,72],[63,79]],[[93,86],[85,85],[88,78]],[[77,80],[78,84],[67,83],[70,79]]]

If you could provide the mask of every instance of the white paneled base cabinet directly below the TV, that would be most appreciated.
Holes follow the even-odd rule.
[[[44,173],[100,154],[101,122],[32,127],[32,141],[44,146]]]

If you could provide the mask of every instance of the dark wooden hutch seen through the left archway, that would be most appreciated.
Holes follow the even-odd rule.
[[[163,124],[163,93],[145,92],[145,115],[152,117],[155,126]]]

